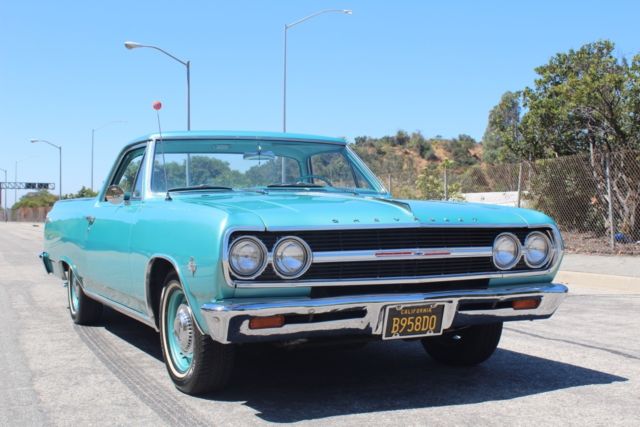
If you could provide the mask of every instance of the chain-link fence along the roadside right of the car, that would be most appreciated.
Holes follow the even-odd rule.
[[[569,251],[640,255],[640,151],[442,170],[453,198],[537,209]]]

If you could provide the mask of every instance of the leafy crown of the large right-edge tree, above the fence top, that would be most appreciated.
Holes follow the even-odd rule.
[[[640,148],[640,56],[631,64],[604,40],[559,53],[524,91],[523,137],[544,153]],[[543,156],[539,156],[543,157]]]

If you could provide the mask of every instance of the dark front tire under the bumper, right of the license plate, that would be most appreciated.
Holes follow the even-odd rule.
[[[469,326],[437,337],[422,338],[429,356],[453,366],[473,366],[487,360],[498,347],[502,322]]]

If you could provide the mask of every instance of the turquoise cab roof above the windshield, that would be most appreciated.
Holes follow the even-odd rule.
[[[148,141],[150,139],[160,138],[159,133],[151,133],[136,138],[131,144]],[[192,131],[168,131],[162,132],[163,139],[224,139],[224,140],[277,140],[277,141],[296,141],[296,142],[319,142],[329,144],[346,145],[344,138],[333,138],[320,135],[305,135],[300,133],[285,132],[257,132],[257,131],[229,131],[229,130],[192,130]]]

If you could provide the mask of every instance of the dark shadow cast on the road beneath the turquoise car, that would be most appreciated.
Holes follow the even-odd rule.
[[[108,313],[105,329],[162,360],[157,334]],[[498,349],[472,368],[428,358],[418,342],[372,342],[361,349],[241,347],[230,386],[207,400],[243,402],[269,422],[508,400],[585,385],[616,375]],[[167,379],[168,381],[168,379]],[[177,392],[177,391],[176,391]]]

